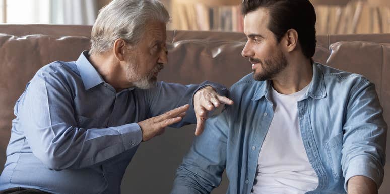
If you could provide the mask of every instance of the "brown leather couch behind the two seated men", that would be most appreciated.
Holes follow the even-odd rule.
[[[45,64],[76,60],[90,46],[90,31],[91,26],[0,25],[0,171],[15,117],[13,106],[26,83]],[[251,71],[241,56],[245,41],[242,33],[168,31],[169,62],[159,79],[182,84],[210,80],[230,86]],[[314,60],[368,77],[375,83],[385,120],[390,123],[390,34],[318,36]],[[168,193],[193,132],[193,125],[170,128],[142,143],[126,170],[122,192]],[[213,193],[225,193],[227,184],[225,176]],[[390,193],[389,164],[379,193]]]

